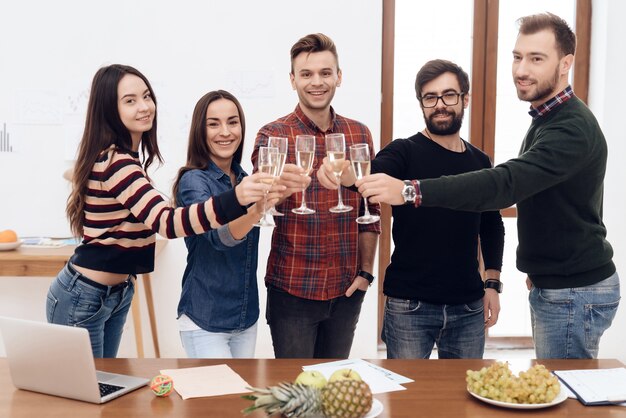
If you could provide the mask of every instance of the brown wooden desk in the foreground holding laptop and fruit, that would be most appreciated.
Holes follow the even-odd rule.
[[[191,360],[191,359],[97,359],[100,370],[134,374],[150,378],[160,369],[198,367],[227,363],[235,372],[254,386],[266,386],[283,380],[293,380],[301,366],[314,363],[310,359],[293,360]],[[533,418],[626,416],[620,406],[585,407],[575,399],[551,408],[533,411],[499,408],[471,397],[465,389],[465,371],[479,369],[490,360],[372,360],[373,363],[415,380],[407,383],[405,391],[375,395],[384,405],[381,417],[393,418],[498,418],[530,416]],[[550,369],[586,369],[623,367],[617,360],[545,360]],[[531,362],[513,362],[520,368]],[[174,382],[175,383],[175,382]],[[250,402],[241,395],[197,398],[183,401],[174,393],[167,398],[155,397],[150,389],[141,388],[104,405],[56,398],[15,389],[8,374],[6,359],[0,359],[0,416],[32,417],[242,417],[240,411]],[[250,417],[263,417],[262,413]]]

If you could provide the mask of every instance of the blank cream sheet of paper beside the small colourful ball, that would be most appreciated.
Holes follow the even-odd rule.
[[[226,364],[167,369],[161,374],[172,378],[174,389],[183,399],[251,392],[246,389],[248,382]]]

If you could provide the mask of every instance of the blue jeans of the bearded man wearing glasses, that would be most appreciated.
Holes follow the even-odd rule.
[[[483,299],[438,305],[387,298],[382,339],[387,358],[427,359],[437,344],[439,358],[482,358],[485,350]]]

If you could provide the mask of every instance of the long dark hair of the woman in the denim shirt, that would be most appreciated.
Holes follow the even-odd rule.
[[[211,150],[207,144],[206,111],[211,103],[219,99],[230,100],[237,107],[237,112],[239,113],[239,123],[241,124],[241,142],[233,154],[233,160],[238,164],[241,164],[243,141],[246,137],[246,118],[243,114],[241,103],[239,103],[239,100],[237,100],[235,96],[226,90],[210,91],[198,100],[198,103],[196,103],[196,107],[193,110],[191,129],[189,130],[189,144],[187,146],[187,162],[184,167],[181,167],[181,169],[178,170],[176,181],[174,182],[174,187],[172,188],[172,198],[177,204],[178,202],[176,196],[178,195],[178,185],[180,183],[180,179],[183,177],[183,174],[189,170],[205,169],[209,164],[209,160],[211,159]]]

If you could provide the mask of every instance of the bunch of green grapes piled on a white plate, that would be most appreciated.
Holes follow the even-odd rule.
[[[508,363],[497,362],[478,371],[468,370],[465,381],[470,392],[509,403],[549,403],[561,391],[559,379],[541,364],[518,377]]]

